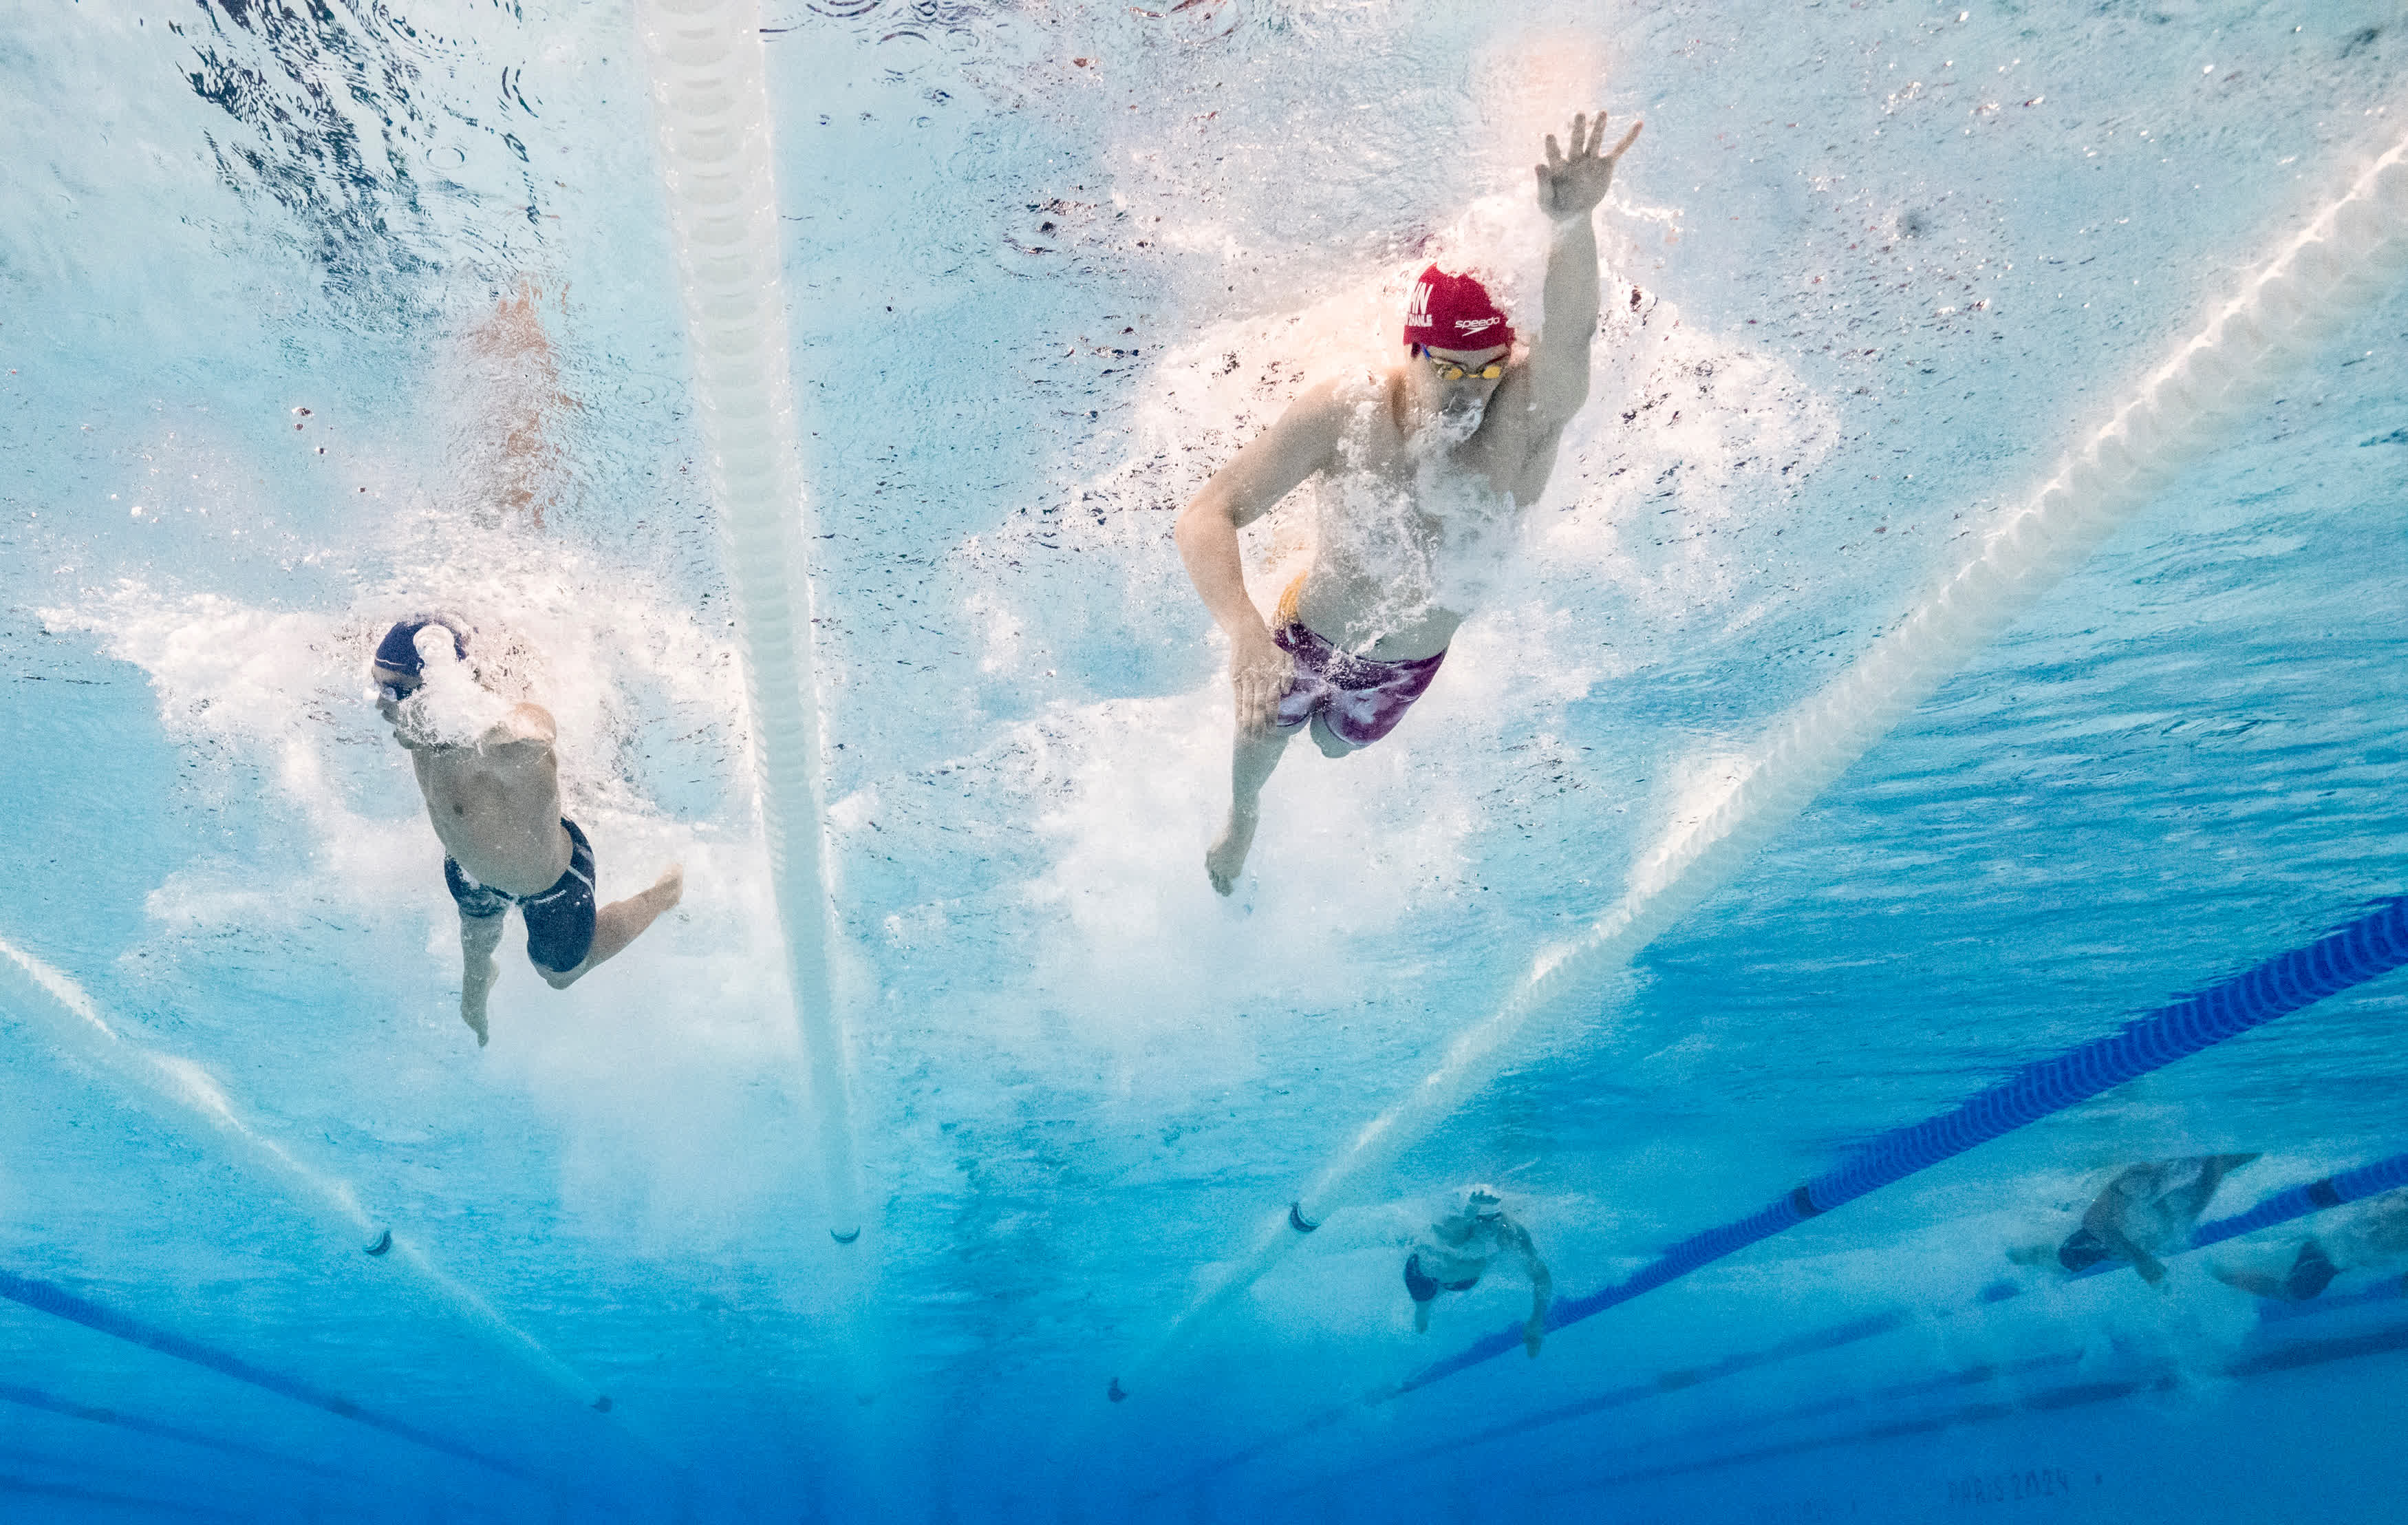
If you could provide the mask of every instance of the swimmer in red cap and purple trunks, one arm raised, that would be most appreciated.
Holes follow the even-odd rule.
[[[1645,123],[1642,123],[1645,125]],[[1476,602],[1454,576],[1539,501],[1565,424],[1589,398],[1599,260],[1589,214],[1640,135],[1604,152],[1606,116],[1546,140],[1539,207],[1553,222],[1546,328],[1527,345],[1474,275],[1423,270],[1404,318],[1406,361],[1308,388],[1214,472],[1178,523],[1180,559],[1228,634],[1238,737],[1228,824],[1204,872],[1230,894],[1255,846],[1262,785],[1303,728],[1324,756],[1370,747],[1438,677]],[[1312,564],[1267,624],[1245,590],[1238,530],[1327,475]]]

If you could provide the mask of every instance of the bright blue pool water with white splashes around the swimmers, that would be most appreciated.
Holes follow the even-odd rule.
[[[2259,1154],[2218,1219],[2408,1149],[2398,973],[1536,1361],[1399,1392],[1529,1308],[1503,1270],[1416,1335],[1399,1265],[1493,1183],[1558,1294],[1616,1286],[2408,891],[2394,275],[1462,1065],[2408,135],[2398,5],[763,0],[850,1246],[636,27],[10,7],[0,1513],[2396,1518],[2408,1262],[2215,1277],[2353,1207],[2162,1286],[2011,1250],[2133,1161]],[[1170,523],[1430,258],[1536,311],[1529,164],[1597,106],[1647,125],[1556,479],[1214,896]],[[1264,600],[1303,549],[1250,530]],[[482,1050],[366,699],[438,605],[556,716],[602,896],[686,872],[566,993],[513,928]]]

